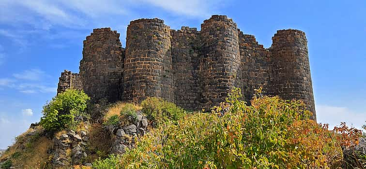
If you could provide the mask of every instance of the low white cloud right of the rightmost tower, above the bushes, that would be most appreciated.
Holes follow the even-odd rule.
[[[336,107],[328,105],[316,105],[318,123],[328,123],[329,129],[339,126],[341,122],[346,122],[349,127],[361,129],[366,124],[366,110],[364,112],[354,112],[347,107]]]

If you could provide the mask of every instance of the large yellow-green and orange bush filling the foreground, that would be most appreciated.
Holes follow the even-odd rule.
[[[304,103],[260,97],[246,106],[240,93],[235,89],[213,113],[189,114],[152,129],[121,156],[118,168],[324,169],[341,159],[338,133],[310,120]],[[156,100],[143,103],[153,120],[165,113],[152,104]]]

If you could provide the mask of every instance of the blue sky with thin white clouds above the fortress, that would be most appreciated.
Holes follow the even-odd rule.
[[[303,30],[318,122],[365,124],[365,0],[0,0],[0,9],[0,148],[39,121],[61,71],[78,72],[93,28],[117,30],[125,46],[126,27],[138,18],[200,29],[225,14],[265,47],[278,29]]]

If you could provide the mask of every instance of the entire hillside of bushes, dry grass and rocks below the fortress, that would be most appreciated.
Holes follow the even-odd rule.
[[[88,99],[85,93],[76,90],[67,90],[52,99],[44,106],[40,125],[31,126],[18,136],[0,157],[0,168],[366,168],[366,155],[354,149],[362,137],[361,130],[349,128],[345,123],[329,130],[328,125],[310,120],[311,113],[305,110],[303,102],[262,96],[260,89],[248,106],[240,89],[235,88],[226,102],[213,107],[211,113],[186,112],[158,98],[148,98],[140,105],[122,102],[92,105],[104,114],[101,121],[89,120],[89,112],[85,112],[91,108],[86,109],[90,106]],[[127,133],[116,136],[116,130],[131,125],[145,129],[137,131],[138,137]],[[66,149],[60,151],[58,142],[70,131],[74,140],[64,142]],[[83,132],[87,134],[82,135]],[[83,138],[76,141],[77,135]],[[126,140],[122,143],[128,148],[123,149],[123,155],[111,154],[121,138]],[[82,149],[79,154],[85,155],[75,160],[74,147],[79,145]],[[72,165],[53,166],[55,156],[60,155]]]

